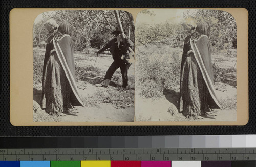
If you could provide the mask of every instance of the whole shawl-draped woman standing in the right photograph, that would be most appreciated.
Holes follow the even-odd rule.
[[[214,88],[210,24],[190,21],[183,26],[190,34],[184,39],[178,111],[187,118],[197,118],[221,109]]]

